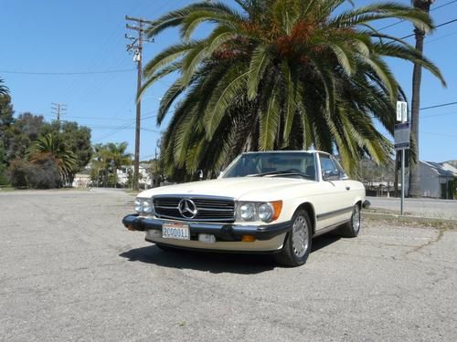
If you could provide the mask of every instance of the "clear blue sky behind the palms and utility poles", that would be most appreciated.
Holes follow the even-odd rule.
[[[166,12],[191,3],[189,0],[0,0],[0,78],[10,88],[16,115],[29,111],[55,119],[51,103],[67,105],[62,119],[90,127],[92,142],[129,143],[134,147],[134,92],[136,71],[133,56],[125,50],[128,32],[124,16],[154,20]],[[409,4],[409,1],[400,1]],[[369,1],[356,1],[366,5]],[[445,5],[448,4],[449,5]],[[438,0],[431,12],[435,25],[457,17],[457,1]],[[380,22],[378,27],[396,21]],[[203,28],[204,30],[205,28]],[[412,33],[409,23],[384,29],[394,36]],[[157,36],[144,47],[143,61],[177,41],[175,30]],[[414,38],[408,38],[414,44]],[[420,107],[457,101],[457,22],[439,27],[426,37],[425,54],[441,67],[448,88],[427,71],[422,78]],[[389,60],[399,83],[410,98],[412,66]],[[112,71],[107,73],[91,73]],[[19,73],[16,73],[19,72]],[[90,72],[90,74],[69,74]],[[60,74],[59,74],[60,73]],[[154,114],[172,78],[156,83],[143,98],[141,159],[154,158],[160,130]],[[392,114],[394,115],[394,114]],[[420,113],[420,159],[457,159],[457,105],[426,109]],[[165,122],[166,124],[166,122]]]

